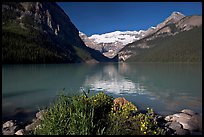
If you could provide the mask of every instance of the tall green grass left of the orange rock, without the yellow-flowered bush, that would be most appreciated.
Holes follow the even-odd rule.
[[[86,93],[73,97],[60,94],[55,103],[47,109],[40,127],[34,131],[34,134],[103,134],[107,126],[104,123],[108,115],[106,112],[110,111],[112,101],[112,98],[104,93],[98,93],[94,97],[88,97]],[[101,102],[103,103],[99,104]]]

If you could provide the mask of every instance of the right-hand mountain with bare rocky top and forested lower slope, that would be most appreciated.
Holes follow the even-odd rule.
[[[202,61],[202,16],[173,12],[142,39],[118,53],[126,62]]]

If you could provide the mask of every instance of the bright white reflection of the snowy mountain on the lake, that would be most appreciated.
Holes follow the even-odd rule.
[[[94,91],[113,94],[145,94],[141,83],[134,83],[118,73],[118,64],[107,64],[98,73],[87,77],[84,85]]]

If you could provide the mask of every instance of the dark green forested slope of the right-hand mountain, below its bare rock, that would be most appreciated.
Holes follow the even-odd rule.
[[[177,31],[172,24],[169,26],[173,31]],[[142,43],[150,48],[136,47],[137,44]],[[201,62],[202,26],[174,36],[159,37],[147,42],[141,40],[126,46],[123,50],[137,53],[127,59],[127,62]]]

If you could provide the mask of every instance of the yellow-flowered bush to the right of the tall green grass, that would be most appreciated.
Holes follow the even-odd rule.
[[[142,114],[137,108],[128,103],[119,111],[112,111],[109,114],[110,125],[106,134],[108,135],[164,135],[154,121],[152,109],[147,109],[146,114]]]

